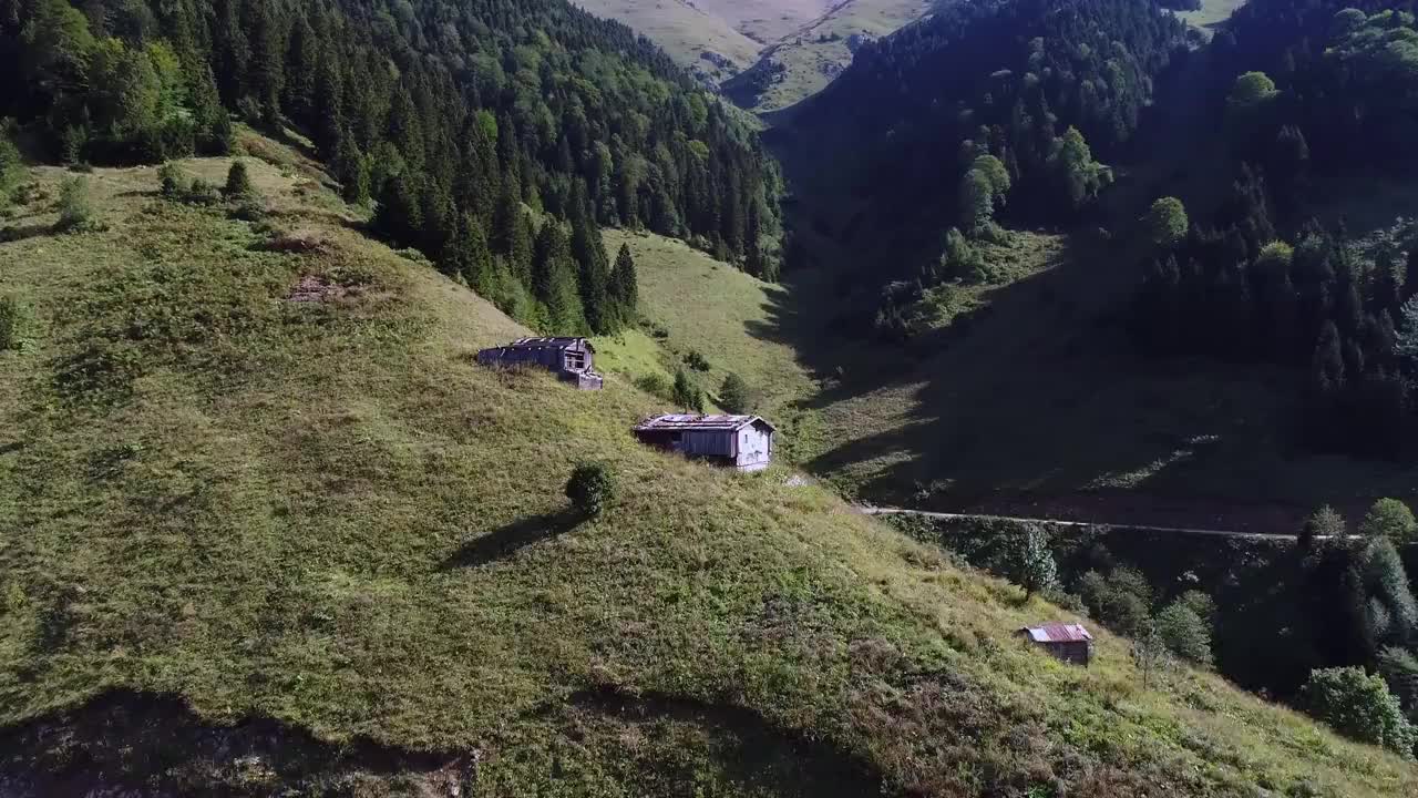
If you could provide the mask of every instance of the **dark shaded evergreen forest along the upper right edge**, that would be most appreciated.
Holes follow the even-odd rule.
[[[1307,209],[1313,187],[1341,172],[1414,163],[1414,17],[1262,0],[1214,48],[1239,179],[1210,223],[1151,263],[1140,338],[1163,356],[1307,368],[1309,444],[1411,454],[1418,302],[1407,302],[1418,294],[1418,239],[1401,230],[1360,257],[1343,226],[1324,230]],[[1256,65],[1280,81],[1232,71]]]

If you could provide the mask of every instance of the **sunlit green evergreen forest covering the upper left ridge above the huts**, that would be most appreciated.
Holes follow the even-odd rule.
[[[230,112],[289,125],[380,234],[549,332],[632,314],[601,224],[777,274],[756,136],[564,0],[0,0],[0,116],[68,162],[225,152]]]

